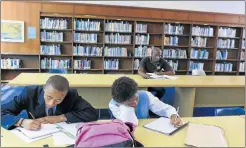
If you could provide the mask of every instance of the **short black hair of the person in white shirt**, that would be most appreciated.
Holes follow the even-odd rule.
[[[116,79],[111,87],[111,95],[118,103],[131,99],[138,91],[138,84],[129,77]]]

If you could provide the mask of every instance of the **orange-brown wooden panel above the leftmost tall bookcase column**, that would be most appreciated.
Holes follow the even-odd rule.
[[[73,13],[73,5],[68,4],[42,4],[42,12]]]

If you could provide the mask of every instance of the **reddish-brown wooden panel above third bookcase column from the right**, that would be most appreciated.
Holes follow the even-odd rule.
[[[214,15],[208,13],[189,13],[189,21],[199,21],[199,22],[214,22]]]

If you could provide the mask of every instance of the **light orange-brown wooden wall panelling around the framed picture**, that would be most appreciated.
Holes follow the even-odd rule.
[[[1,18],[25,23],[24,43],[1,42],[2,53],[39,53],[39,11],[41,4],[26,2],[2,2]],[[36,27],[36,39],[27,39],[27,28]]]

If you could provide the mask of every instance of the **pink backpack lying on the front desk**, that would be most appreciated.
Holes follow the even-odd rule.
[[[114,119],[77,125],[74,147],[143,147],[134,139],[135,126]]]

